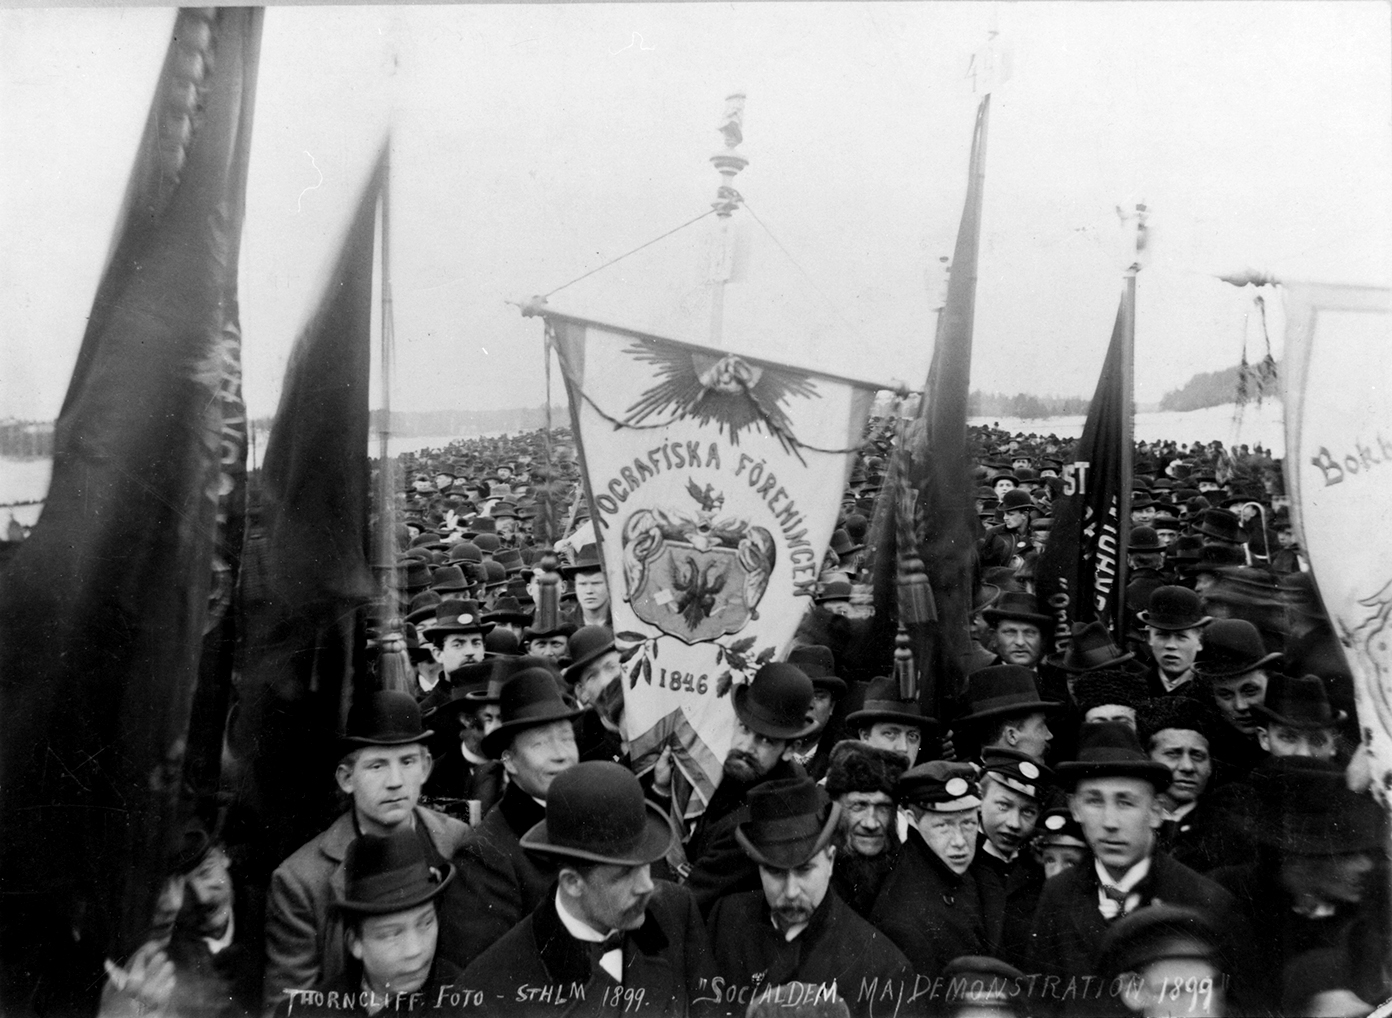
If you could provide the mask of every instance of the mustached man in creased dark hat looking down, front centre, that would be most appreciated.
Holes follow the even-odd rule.
[[[913,994],[909,960],[831,887],[839,819],[841,806],[807,777],[749,794],[749,820],[735,836],[761,888],[721,898],[710,914],[727,1014],[743,1015],[760,994],[792,982],[842,1000],[856,1018],[894,1011]]]

